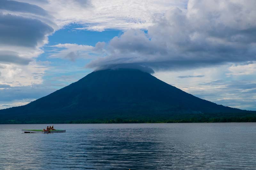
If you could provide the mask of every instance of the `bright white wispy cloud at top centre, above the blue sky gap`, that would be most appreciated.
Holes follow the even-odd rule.
[[[58,26],[79,23],[94,31],[105,29],[144,28],[152,25],[152,16],[163,13],[171,6],[185,9],[187,0],[49,0],[47,3],[20,0],[39,5],[56,18]]]

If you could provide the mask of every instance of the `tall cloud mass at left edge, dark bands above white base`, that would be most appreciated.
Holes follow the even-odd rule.
[[[41,47],[48,36],[58,29],[54,17],[36,5],[2,0],[0,23],[0,83],[41,84],[47,68],[35,58],[44,52]]]

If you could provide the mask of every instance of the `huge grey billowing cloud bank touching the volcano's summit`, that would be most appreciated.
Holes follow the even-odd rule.
[[[173,7],[155,15],[148,32],[131,29],[113,38],[108,55],[87,66],[138,64],[190,69],[256,60],[256,1],[190,0],[186,11]]]

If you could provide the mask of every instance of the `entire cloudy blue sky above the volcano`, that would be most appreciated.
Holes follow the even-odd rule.
[[[140,68],[256,110],[255,0],[0,0],[0,109],[94,70]]]

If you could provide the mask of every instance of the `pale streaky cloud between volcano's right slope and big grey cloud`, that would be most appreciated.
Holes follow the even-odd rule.
[[[154,76],[196,97],[240,109],[256,110],[256,72],[248,75],[228,76],[231,64],[193,70],[157,71]],[[178,78],[180,75],[204,77]]]

